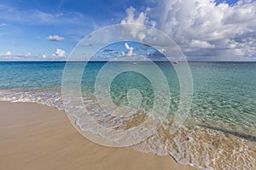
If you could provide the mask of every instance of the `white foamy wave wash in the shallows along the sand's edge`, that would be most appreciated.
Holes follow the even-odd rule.
[[[64,110],[65,105],[60,93],[49,90],[22,91],[19,89],[1,90],[0,100],[10,102],[32,102],[53,106]],[[72,101],[75,101],[72,99]],[[77,125],[85,131],[97,133],[106,139],[93,125],[83,119],[80,111],[86,107],[88,114],[104,127],[122,128],[124,122],[134,117],[117,118],[106,112],[99,111],[96,101],[84,97],[84,105],[70,105]],[[67,113],[68,114],[68,113]],[[177,133],[171,134],[170,122],[164,122],[156,129],[153,136],[131,148],[157,155],[170,155],[177,162],[189,164],[199,169],[256,169],[256,143],[206,127],[182,127]]]

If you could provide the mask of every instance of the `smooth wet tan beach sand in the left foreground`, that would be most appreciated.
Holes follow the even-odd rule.
[[[192,170],[171,156],[90,142],[64,111],[32,103],[0,102],[1,170]]]

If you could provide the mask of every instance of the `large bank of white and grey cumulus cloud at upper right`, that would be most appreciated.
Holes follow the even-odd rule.
[[[189,56],[256,56],[256,2],[240,0],[233,5],[212,0],[152,0],[136,16],[126,9],[122,23],[151,24],[164,31]],[[132,28],[131,28],[132,29]],[[134,37],[143,31],[131,30]],[[218,58],[219,59],[219,58]]]

